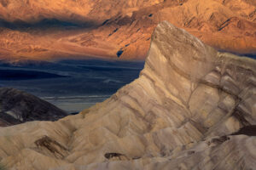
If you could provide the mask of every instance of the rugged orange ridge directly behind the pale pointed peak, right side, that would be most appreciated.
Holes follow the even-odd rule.
[[[214,48],[255,54],[255,9],[254,3],[242,0],[164,1],[108,20],[92,31],[94,36],[89,32],[72,41],[100,48],[99,39],[104,39],[123,51],[121,58],[143,59],[154,27],[167,20]]]

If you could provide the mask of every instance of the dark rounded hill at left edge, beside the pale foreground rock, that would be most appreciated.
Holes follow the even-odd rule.
[[[56,121],[65,111],[15,88],[0,88],[0,127],[31,121]]]

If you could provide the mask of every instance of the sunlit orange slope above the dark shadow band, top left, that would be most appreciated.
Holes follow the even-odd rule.
[[[117,14],[125,14],[163,2],[163,0],[1,0],[1,18],[14,24],[36,23],[44,19],[93,24]],[[92,21],[90,23],[90,21]],[[86,22],[85,22],[86,23]]]

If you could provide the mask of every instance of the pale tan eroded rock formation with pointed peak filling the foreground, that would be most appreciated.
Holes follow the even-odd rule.
[[[140,77],[57,122],[0,128],[9,169],[253,169],[256,62],[162,22]]]

